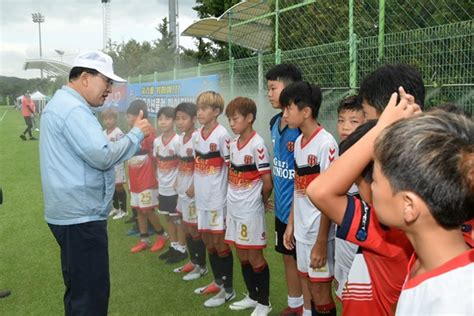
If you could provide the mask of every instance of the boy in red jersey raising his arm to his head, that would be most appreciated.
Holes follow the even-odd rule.
[[[376,195],[368,177],[373,148],[363,141],[373,141],[388,125],[387,117],[399,118],[415,111],[413,97],[407,96],[403,90],[400,96],[402,101],[396,106],[397,94],[392,95],[375,127],[370,128],[374,123],[368,122],[351,134],[346,142],[362,139],[350,146],[306,190],[314,205],[340,226],[337,236],[360,246],[342,293],[341,285],[338,285],[344,315],[393,315],[405,267],[413,253],[406,235],[399,229],[381,225],[378,211],[374,212],[371,206],[372,195]],[[353,183],[358,186],[359,196],[347,194]]]

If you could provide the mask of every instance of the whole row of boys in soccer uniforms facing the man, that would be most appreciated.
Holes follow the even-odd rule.
[[[251,315],[272,311],[265,211],[275,215],[288,307],[281,315],[473,315],[474,123],[453,105],[423,112],[425,90],[411,66],[385,65],[337,109],[335,138],[318,121],[321,89],[298,68],[267,73],[272,150],[253,129],[257,105],[226,106],[214,91],[163,107],[160,135],[128,161],[138,253],[159,258],[183,280],[208,273],[194,291],[206,307],[231,302]],[[133,101],[127,121],[146,104]],[[218,122],[225,114],[236,135]],[[110,141],[117,113],[102,113]],[[196,121],[200,127],[196,129]],[[177,133],[177,132],[178,133]],[[116,166],[111,216],[127,214],[125,168]],[[270,197],[273,193],[273,201]],[[166,232],[155,210],[166,216]],[[149,224],[153,227],[149,230]],[[156,234],[152,245],[150,234]],[[248,294],[236,301],[233,250]],[[207,258],[206,258],[207,257]],[[274,276],[280,277],[280,276]]]

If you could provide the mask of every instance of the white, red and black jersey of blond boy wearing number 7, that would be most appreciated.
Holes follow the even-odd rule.
[[[199,210],[219,210],[226,205],[227,164],[230,136],[220,124],[203,136],[201,127],[194,140],[194,194]]]

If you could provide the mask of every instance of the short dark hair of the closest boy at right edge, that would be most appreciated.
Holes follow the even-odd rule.
[[[409,191],[445,229],[474,216],[474,122],[446,111],[424,112],[382,131],[374,156],[394,193]]]

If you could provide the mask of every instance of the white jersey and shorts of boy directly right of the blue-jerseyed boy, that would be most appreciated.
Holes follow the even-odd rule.
[[[329,164],[337,158],[338,148],[334,137],[318,127],[311,138],[302,142],[303,135],[295,141],[295,239],[313,245],[319,231],[321,212],[306,196],[306,188]],[[334,239],[335,227],[331,224],[328,240]]]

